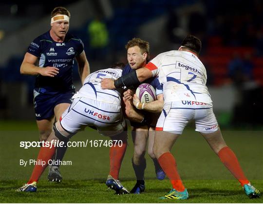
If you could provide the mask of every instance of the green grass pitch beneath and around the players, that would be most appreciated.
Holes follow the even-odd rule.
[[[263,191],[263,132],[224,131],[226,143],[236,153],[246,176]],[[96,131],[87,129],[72,141],[106,140]],[[33,165],[20,166],[19,160],[36,159],[39,148],[23,149],[20,141],[38,141],[35,122],[0,122],[0,202],[1,203],[263,203],[263,198],[248,199],[239,183],[225,169],[205,140],[195,131],[186,130],[172,149],[179,173],[188,188],[187,201],[160,201],[169,192],[169,180],[155,179],[153,163],[146,155],[146,192],[141,195],[113,195],[105,180],[109,172],[108,147],[68,148],[61,166],[61,184],[48,183],[47,170],[38,184],[38,193],[17,193],[25,183]],[[129,146],[120,171],[120,180],[128,189],[134,185],[131,167],[133,145]]]

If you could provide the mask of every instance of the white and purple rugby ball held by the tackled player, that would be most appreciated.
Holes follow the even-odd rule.
[[[156,100],[155,88],[149,83],[142,83],[136,89],[136,96],[140,102],[153,102]]]

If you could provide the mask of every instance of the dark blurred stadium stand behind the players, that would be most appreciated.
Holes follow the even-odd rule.
[[[187,34],[196,35],[221,126],[262,126],[261,0],[1,1],[0,120],[35,120],[35,77],[20,75],[19,67],[31,41],[50,28],[56,6],[71,12],[69,32],[82,39],[92,72],[127,62],[125,44],[133,37],[150,42],[153,58],[178,49]],[[78,88],[76,67],[73,75]]]

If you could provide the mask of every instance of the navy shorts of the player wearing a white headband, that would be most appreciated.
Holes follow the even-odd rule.
[[[34,108],[37,121],[54,116],[54,108],[59,103],[72,103],[75,90],[65,92],[46,91],[44,88],[34,89]]]

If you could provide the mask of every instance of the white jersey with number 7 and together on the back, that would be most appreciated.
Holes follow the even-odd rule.
[[[164,101],[194,101],[212,104],[208,92],[207,71],[197,56],[172,50],[157,55],[146,67],[163,84]]]

